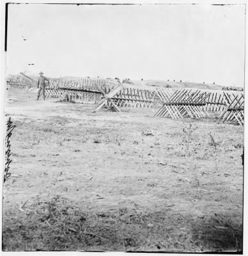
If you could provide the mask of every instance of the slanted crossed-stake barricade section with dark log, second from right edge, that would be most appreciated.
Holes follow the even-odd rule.
[[[162,99],[163,105],[154,116],[171,117],[180,119],[185,117],[204,118],[208,117],[204,106],[205,99],[210,93],[193,89],[177,89],[171,96]]]

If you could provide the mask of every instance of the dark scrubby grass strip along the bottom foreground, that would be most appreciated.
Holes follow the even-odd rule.
[[[90,212],[59,196],[33,203],[26,211],[10,220],[5,212],[4,251],[242,250],[241,227],[223,216],[196,220],[170,208]]]

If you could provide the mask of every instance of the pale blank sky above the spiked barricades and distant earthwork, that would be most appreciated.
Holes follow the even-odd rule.
[[[244,86],[244,4],[10,4],[7,40],[6,74]]]

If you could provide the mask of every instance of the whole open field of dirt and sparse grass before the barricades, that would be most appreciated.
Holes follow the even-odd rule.
[[[3,250],[242,250],[244,127],[35,98],[7,93]]]

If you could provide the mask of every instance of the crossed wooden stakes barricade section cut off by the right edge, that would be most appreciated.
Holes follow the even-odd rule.
[[[244,125],[244,93],[227,93],[224,92],[228,107],[224,109],[219,116],[218,122],[235,122],[239,125]]]

